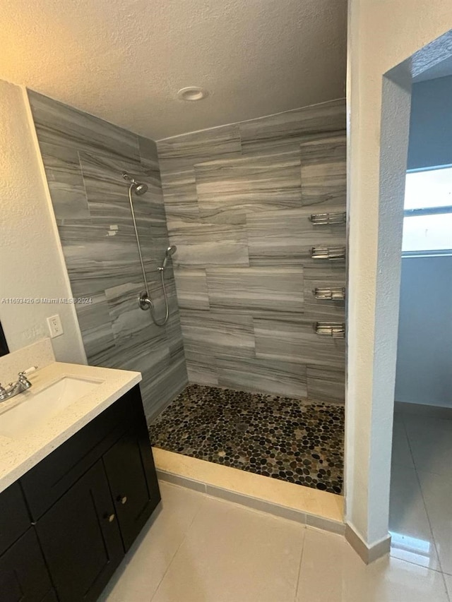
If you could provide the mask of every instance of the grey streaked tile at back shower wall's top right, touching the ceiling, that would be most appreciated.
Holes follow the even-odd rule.
[[[345,102],[331,100],[239,124],[242,152],[277,152],[298,148],[307,138],[324,138],[345,129]]]

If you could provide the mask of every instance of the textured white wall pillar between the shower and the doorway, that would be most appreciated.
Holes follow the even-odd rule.
[[[368,546],[388,533],[410,110],[409,80],[383,75],[451,28],[448,0],[349,1],[346,520]]]

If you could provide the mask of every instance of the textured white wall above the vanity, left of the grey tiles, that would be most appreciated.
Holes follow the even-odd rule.
[[[46,318],[58,313],[56,359],[86,363],[73,306],[1,301],[72,296],[31,123],[25,90],[0,80],[0,321],[16,351],[49,336]]]

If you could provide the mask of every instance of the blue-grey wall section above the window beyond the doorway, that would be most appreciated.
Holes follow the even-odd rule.
[[[452,76],[412,87],[408,169],[452,164]]]

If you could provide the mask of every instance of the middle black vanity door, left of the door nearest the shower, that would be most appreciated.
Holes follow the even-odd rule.
[[[59,599],[97,600],[124,556],[101,460],[37,521],[36,529]]]

